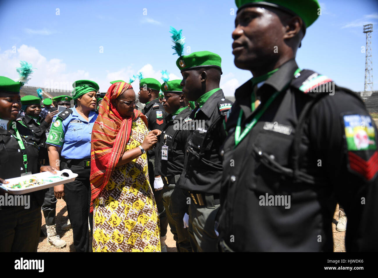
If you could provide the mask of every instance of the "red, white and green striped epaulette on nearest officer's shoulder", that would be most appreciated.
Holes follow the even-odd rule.
[[[322,93],[334,89],[332,79],[312,70],[302,70],[294,76],[291,86],[304,93]],[[332,86],[329,88],[329,86]]]

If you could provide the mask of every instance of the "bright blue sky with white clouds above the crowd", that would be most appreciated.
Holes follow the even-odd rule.
[[[320,3],[322,15],[308,28],[297,53],[299,67],[327,75],[343,87],[363,90],[362,26],[373,23],[373,76],[378,90],[378,1]],[[141,69],[155,78],[165,69],[172,78],[181,77],[171,49],[169,26],[174,26],[183,29],[191,52],[209,50],[222,57],[221,87],[226,95],[233,95],[251,73],[233,63],[231,9],[236,14],[235,2],[226,0],[1,1],[0,75],[16,79],[15,67],[22,59],[37,68],[28,85],[40,87],[46,82],[91,79],[105,92],[109,81],[128,81]]]

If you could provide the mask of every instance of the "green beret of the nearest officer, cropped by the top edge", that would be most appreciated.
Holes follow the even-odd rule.
[[[318,0],[235,0],[238,12],[240,7],[248,6],[270,6],[296,14],[300,16],[305,23],[305,27],[309,27],[319,16],[320,5]]]

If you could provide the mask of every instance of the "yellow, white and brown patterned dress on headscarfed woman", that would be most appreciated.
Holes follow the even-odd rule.
[[[147,134],[146,125],[136,118],[125,150],[138,148]],[[93,252],[160,252],[159,216],[147,154],[116,167],[93,207]]]

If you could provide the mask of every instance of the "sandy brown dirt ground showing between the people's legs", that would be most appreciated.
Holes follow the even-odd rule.
[[[63,224],[67,222],[68,213],[67,207],[64,200],[58,200],[56,204],[56,232],[60,236],[61,239],[67,242],[67,245],[63,248],[56,248],[53,245],[50,245],[47,242],[46,236],[41,236],[39,238],[39,245],[38,245],[38,252],[75,252],[75,248],[73,246],[73,237],[72,237],[72,229],[65,231],[62,230]],[[333,216],[332,221],[332,232],[333,232],[333,251],[334,252],[345,252],[345,232],[338,232],[336,231],[337,219],[338,219],[339,207],[336,207],[335,214]],[[42,232],[46,235],[46,226],[45,226],[45,219],[43,218],[42,214]],[[177,252],[176,250],[176,243],[173,239],[173,235],[168,228],[167,232],[167,239],[166,239],[167,251],[168,252]],[[92,250],[90,250],[92,251]]]

